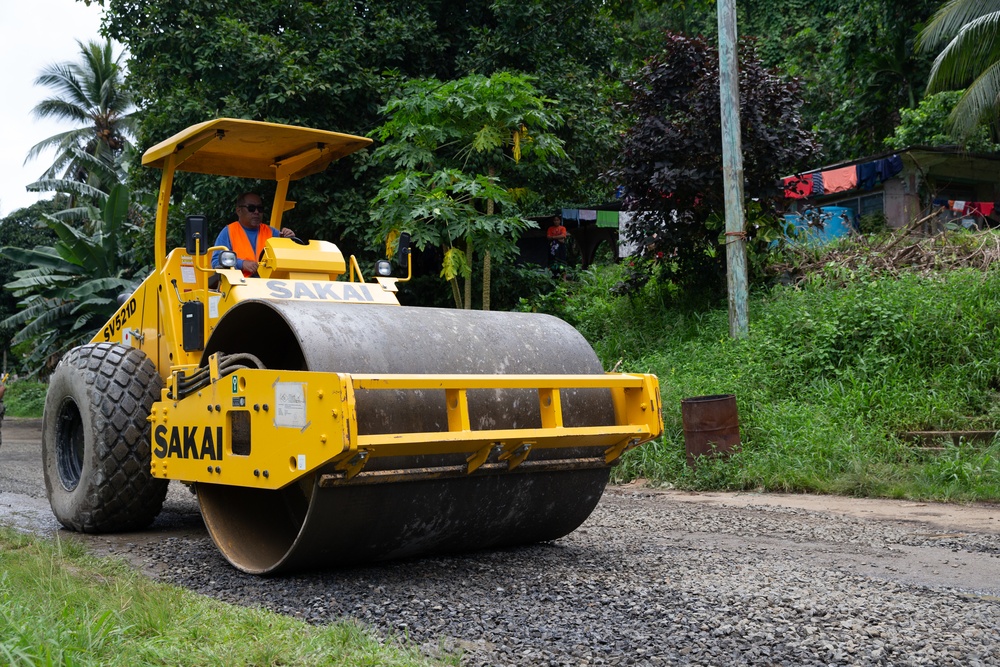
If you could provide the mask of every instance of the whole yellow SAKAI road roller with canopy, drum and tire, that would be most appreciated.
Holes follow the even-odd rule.
[[[223,118],[146,151],[155,268],[46,396],[62,525],[146,528],[177,480],[253,574],[529,544],[576,529],[611,467],[662,433],[656,377],[605,373],[557,318],[400,305],[405,234],[370,280],[324,240],[269,239],[253,277],[231,253],[212,268],[228,221],[204,216],[177,221],[185,245],[167,251],[176,172],[274,181],[280,229],[293,181],[369,143]]]

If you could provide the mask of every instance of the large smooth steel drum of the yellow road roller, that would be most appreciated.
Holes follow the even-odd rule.
[[[338,373],[600,374],[573,327],[547,315],[381,305],[247,301],[220,320],[206,348],[249,352],[272,369]],[[614,424],[606,389],[563,390],[566,426]],[[446,431],[443,390],[358,391],[358,429]],[[470,390],[472,428],[540,427],[532,390]],[[266,445],[265,445],[266,446]],[[415,481],[326,485],[320,470],[278,491],[198,484],[201,512],[223,555],[251,573],[319,569],[553,540],[597,505],[608,468],[593,448],[532,453],[540,471],[477,471]],[[374,459],[365,470],[436,469],[461,456]],[[487,466],[484,466],[484,469]],[[554,468],[554,469],[553,469]]]

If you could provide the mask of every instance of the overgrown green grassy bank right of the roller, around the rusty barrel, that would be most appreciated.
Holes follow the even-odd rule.
[[[928,454],[911,430],[1000,430],[1000,272],[822,275],[751,297],[750,333],[725,303],[672,305],[650,281],[616,297],[620,267],[581,274],[557,304],[606,368],[660,379],[666,434],[626,455],[618,480],[687,489],[1000,501],[1000,444]],[[742,448],[685,464],[681,399],[737,397]],[[950,441],[949,441],[950,442]]]

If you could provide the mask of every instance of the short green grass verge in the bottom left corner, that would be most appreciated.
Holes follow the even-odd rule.
[[[154,583],[124,563],[0,527],[0,664],[431,665],[351,622],[317,627]]]

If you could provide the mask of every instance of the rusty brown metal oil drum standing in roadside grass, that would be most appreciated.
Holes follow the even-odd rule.
[[[705,455],[728,456],[740,446],[735,394],[682,399],[681,420],[688,465]]]

